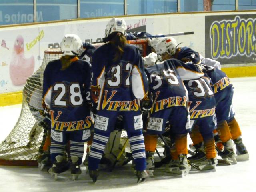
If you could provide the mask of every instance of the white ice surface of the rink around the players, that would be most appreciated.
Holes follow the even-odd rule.
[[[0,192],[254,192],[256,191],[256,77],[232,78],[236,120],[242,130],[250,160],[231,166],[217,166],[216,172],[192,170],[184,178],[156,169],[154,177],[136,184],[131,164],[113,172],[100,171],[96,184],[82,167],[82,175],[72,181],[68,172],[55,181],[36,167],[0,166]],[[21,105],[0,107],[0,141],[4,140],[18,119]],[[189,143],[189,142],[188,142]]]

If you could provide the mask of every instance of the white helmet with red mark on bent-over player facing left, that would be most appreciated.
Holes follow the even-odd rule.
[[[176,52],[177,42],[172,37],[165,37],[156,44],[156,54],[160,55],[168,52],[170,55],[174,55]]]

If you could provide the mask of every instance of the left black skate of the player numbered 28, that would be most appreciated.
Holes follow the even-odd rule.
[[[58,174],[65,172],[69,169],[70,163],[64,159],[64,156],[57,155],[55,157],[55,162],[53,163],[52,167],[48,170],[51,175],[54,175],[54,179],[57,180]]]

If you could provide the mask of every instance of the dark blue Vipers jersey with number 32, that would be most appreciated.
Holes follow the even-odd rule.
[[[138,48],[125,44],[120,60],[114,62],[115,48],[104,44],[92,56],[92,85],[99,85],[98,110],[138,111],[148,91],[147,77]]]

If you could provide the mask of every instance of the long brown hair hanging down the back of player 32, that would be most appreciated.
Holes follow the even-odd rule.
[[[112,33],[108,36],[108,38],[109,44],[111,44],[115,50],[113,61],[116,62],[121,59],[122,54],[124,53],[124,44],[127,43],[127,40],[120,32]]]

